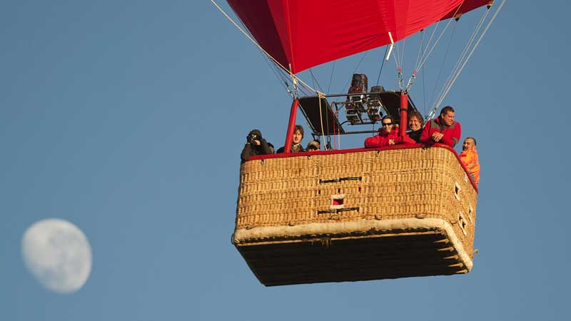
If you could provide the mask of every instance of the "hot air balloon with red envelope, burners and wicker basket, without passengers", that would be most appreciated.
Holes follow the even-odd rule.
[[[395,91],[369,89],[366,76],[355,74],[347,93],[321,93],[296,74],[380,46],[389,58],[399,41],[438,21],[458,21],[482,6],[487,16],[493,1],[227,1],[248,37],[289,77],[293,98],[285,153],[253,156],[240,170],[232,243],[258,280],[271,286],[469,272],[477,185],[450,146],[335,149],[328,141],[326,151],[290,153],[298,109],[321,138],[374,132],[349,128],[382,115],[405,135],[408,112],[417,109],[408,91],[428,47],[408,81],[398,66]],[[481,36],[503,4],[487,25],[480,21]]]

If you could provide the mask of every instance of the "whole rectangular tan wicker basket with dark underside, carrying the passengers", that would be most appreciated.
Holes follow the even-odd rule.
[[[233,244],[264,285],[472,268],[477,190],[451,148],[293,155],[241,166]]]

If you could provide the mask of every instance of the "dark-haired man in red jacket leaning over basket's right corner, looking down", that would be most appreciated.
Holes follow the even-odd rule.
[[[443,143],[454,147],[460,141],[460,123],[454,121],[454,108],[446,106],[440,116],[426,123],[420,143]]]

